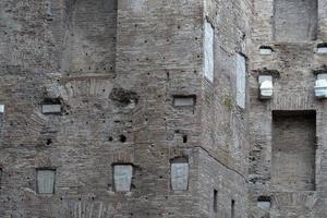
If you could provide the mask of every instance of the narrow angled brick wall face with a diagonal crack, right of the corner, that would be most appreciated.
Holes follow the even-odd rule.
[[[204,11],[214,28],[214,80],[203,82],[202,217],[247,217],[246,77],[252,7],[242,0],[206,1]]]

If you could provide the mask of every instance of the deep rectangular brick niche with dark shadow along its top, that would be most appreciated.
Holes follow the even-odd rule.
[[[275,191],[314,191],[315,152],[315,111],[272,111]]]

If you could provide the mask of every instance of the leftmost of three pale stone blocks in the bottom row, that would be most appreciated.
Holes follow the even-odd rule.
[[[37,169],[36,182],[38,194],[55,194],[55,169]]]

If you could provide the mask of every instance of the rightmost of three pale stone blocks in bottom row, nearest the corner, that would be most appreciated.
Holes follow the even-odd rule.
[[[171,164],[171,189],[173,191],[184,191],[189,186],[189,164]]]

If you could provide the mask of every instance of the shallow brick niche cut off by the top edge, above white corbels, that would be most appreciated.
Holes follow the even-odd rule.
[[[317,38],[317,0],[275,0],[275,40],[299,43]]]

